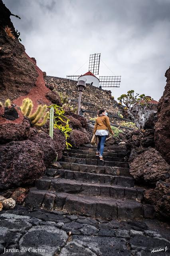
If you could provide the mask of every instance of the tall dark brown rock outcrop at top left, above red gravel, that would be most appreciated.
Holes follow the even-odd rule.
[[[0,1],[0,100],[26,95],[34,87],[38,74],[35,64],[30,61],[25,48],[20,44],[10,20],[10,10]],[[12,29],[15,39],[7,36],[4,27]]]

